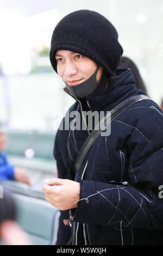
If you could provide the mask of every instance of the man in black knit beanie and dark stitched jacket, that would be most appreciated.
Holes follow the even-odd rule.
[[[65,92],[76,100],[70,113],[78,112],[83,120],[84,111],[93,117],[95,111],[106,113],[131,96],[145,95],[136,89],[130,69],[116,70],[122,53],[116,29],[95,11],[74,11],[58,23],[50,59]],[[72,245],[161,244],[160,108],[149,99],[123,111],[111,121],[110,135],[97,137],[76,173],[79,150],[91,134],[89,120],[85,123],[86,130],[58,130],[54,156],[59,179],[43,186],[46,200],[61,210],[58,245],[70,240],[70,227]],[[65,220],[70,209],[70,220]]]

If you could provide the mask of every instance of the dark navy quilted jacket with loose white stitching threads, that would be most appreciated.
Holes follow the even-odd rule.
[[[82,100],[83,110],[110,111],[136,89],[130,69],[101,93]],[[78,109],[74,103],[71,111]],[[72,221],[73,245],[155,245],[163,243],[163,114],[153,101],[129,107],[111,123],[111,135],[99,136],[77,174],[74,162],[87,131],[58,131],[54,156],[59,178],[80,182],[80,200]],[[67,211],[61,212],[62,218]],[[62,226],[62,223],[61,223]],[[61,227],[60,226],[60,227]],[[63,227],[67,230],[68,227]],[[58,244],[66,243],[62,228]]]

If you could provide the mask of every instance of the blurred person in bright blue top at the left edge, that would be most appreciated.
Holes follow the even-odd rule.
[[[26,171],[8,163],[7,155],[4,153],[5,142],[6,137],[0,128],[0,180],[17,180],[29,185]]]

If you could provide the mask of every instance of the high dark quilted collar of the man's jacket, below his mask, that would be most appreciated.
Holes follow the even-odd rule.
[[[91,111],[111,111],[118,103],[128,99],[128,97],[145,94],[135,86],[135,78],[130,69],[117,69],[116,82],[105,82],[102,90],[97,90],[95,93],[85,98]],[[64,89],[70,96],[68,90]],[[83,99],[76,99],[76,101],[83,101]]]

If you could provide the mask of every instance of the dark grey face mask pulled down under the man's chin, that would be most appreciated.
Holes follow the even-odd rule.
[[[66,84],[66,88],[69,90],[70,94],[73,97],[79,98],[90,96],[97,89],[97,87],[102,84],[103,81],[103,74],[98,82],[96,80],[98,70],[99,66],[90,78],[88,78],[83,83],[77,84],[77,86],[68,86],[68,84]]]

